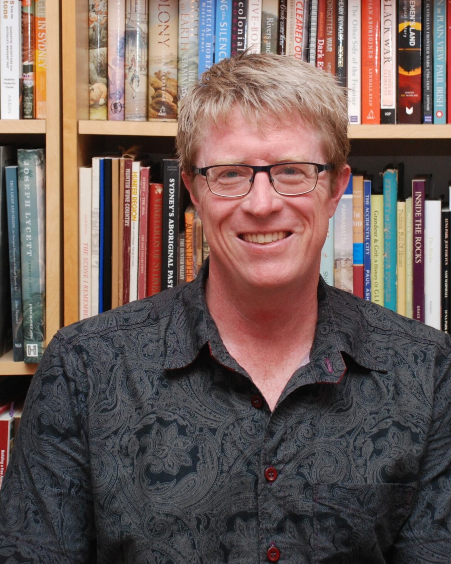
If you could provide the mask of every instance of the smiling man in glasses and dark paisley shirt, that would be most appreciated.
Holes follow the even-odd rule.
[[[1,562],[449,562],[450,340],[319,277],[343,91],[246,55],[184,100],[210,258],[63,329],[1,492]]]

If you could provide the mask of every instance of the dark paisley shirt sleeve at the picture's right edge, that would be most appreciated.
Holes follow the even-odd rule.
[[[392,564],[451,562],[450,362],[451,355],[435,384],[432,423],[417,496],[388,560]]]

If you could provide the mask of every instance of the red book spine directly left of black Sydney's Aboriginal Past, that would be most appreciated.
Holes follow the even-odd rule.
[[[149,190],[149,252],[147,296],[161,291],[161,244],[163,233],[163,184],[152,183]]]

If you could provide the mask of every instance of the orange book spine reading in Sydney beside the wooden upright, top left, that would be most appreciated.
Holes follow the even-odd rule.
[[[34,17],[36,92],[34,96],[34,115],[37,120],[45,120],[47,116],[47,25],[46,0],[36,0],[36,16]]]

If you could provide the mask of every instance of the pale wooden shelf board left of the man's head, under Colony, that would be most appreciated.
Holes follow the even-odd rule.
[[[85,135],[145,135],[174,137],[176,122],[79,120],[78,133]]]

